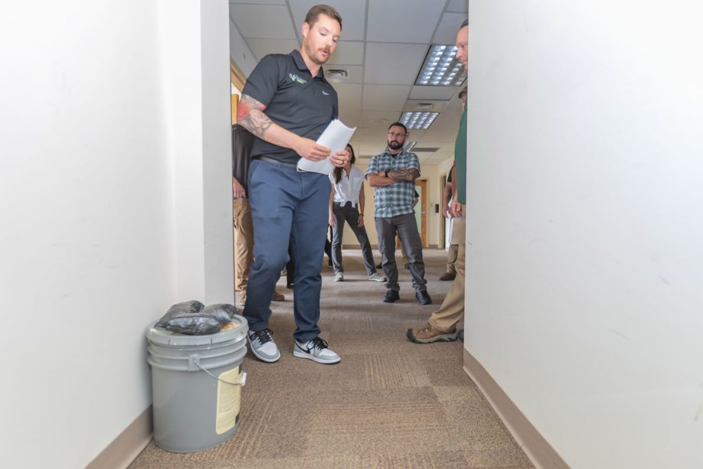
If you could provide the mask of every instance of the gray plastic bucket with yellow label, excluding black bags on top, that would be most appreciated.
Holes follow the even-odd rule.
[[[151,365],[154,443],[166,451],[191,453],[231,439],[239,428],[242,359],[249,327],[209,335],[179,335],[155,322],[146,330]]]

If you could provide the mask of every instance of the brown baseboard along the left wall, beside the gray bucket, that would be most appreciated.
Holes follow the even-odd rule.
[[[127,468],[149,444],[152,434],[151,406],[148,406],[146,411],[143,411],[86,466],[86,469]]]

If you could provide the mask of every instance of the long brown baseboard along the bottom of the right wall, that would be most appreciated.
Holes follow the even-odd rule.
[[[522,451],[538,469],[569,469],[546,439],[534,428],[527,417],[510,400],[498,383],[491,377],[486,368],[475,357],[464,349],[464,371],[483,392],[486,400],[503,420],[505,427],[520,444]]]

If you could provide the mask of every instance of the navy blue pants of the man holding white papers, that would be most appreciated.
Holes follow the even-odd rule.
[[[330,180],[325,174],[298,172],[275,162],[252,160],[249,199],[254,221],[254,264],[247,284],[244,317],[250,330],[268,327],[271,297],[288,262],[295,261],[293,313],[299,342],[320,333],[320,291],[327,238]]]

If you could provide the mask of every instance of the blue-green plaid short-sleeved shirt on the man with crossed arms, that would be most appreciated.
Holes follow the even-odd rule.
[[[418,176],[420,176],[418,155],[403,150],[393,156],[386,149],[383,153],[371,158],[366,169],[366,179],[372,173],[411,168],[417,169]],[[377,187],[373,195],[373,217],[392,218],[413,213],[413,202],[415,202],[415,181],[402,181],[390,186]]]

